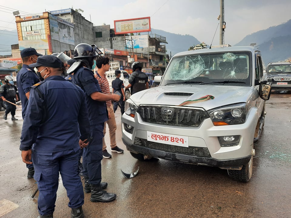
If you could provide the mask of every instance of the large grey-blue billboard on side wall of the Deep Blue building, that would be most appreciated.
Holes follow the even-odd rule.
[[[49,28],[52,40],[57,40],[69,45],[75,45],[74,24],[49,14]]]

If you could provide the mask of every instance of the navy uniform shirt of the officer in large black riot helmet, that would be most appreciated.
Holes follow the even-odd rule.
[[[73,75],[73,83],[77,84],[85,92],[89,112],[90,125],[104,123],[108,120],[108,112],[105,101],[95,101],[91,98],[94,92],[102,92],[94,73],[83,66],[79,67]]]

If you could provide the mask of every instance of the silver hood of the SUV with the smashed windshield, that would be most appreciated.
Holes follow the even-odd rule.
[[[137,106],[140,104],[180,105],[184,101],[191,101],[188,107],[202,107],[206,111],[223,105],[247,102],[256,92],[253,87],[221,86],[221,85],[176,85],[159,86],[133,94],[130,98]],[[181,96],[188,94],[188,96]],[[205,101],[193,101],[205,96],[213,96]],[[190,102],[189,102],[190,103]]]

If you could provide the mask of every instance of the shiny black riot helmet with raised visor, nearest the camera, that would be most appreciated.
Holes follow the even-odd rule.
[[[73,59],[81,59],[81,58],[95,58],[99,56],[99,49],[97,50],[96,45],[89,45],[86,43],[80,43],[79,45],[76,45],[74,49],[74,58]],[[102,53],[102,52],[101,52]]]

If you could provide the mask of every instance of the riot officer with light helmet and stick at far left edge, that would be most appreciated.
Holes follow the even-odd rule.
[[[5,76],[4,82],[6,84],[3,84],[0,86],[0,97],[2,98],[2,101],[7,100],[15,104],[16,103],[15,98],[16,98],[16,101],[18,101],[18,91],[17,91],[16,86],[13,84],[12,76]],[[18,120],[14,117],[16,106],[13,104],[10,104],[9,102],[7,102],[6,105],[7,105],[6,111],[5,111],[5,114],[3,115],[4,120],[7,120],[7,114],[9,114],[9,112],[11,112],[12,121]]]

